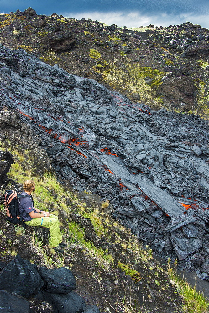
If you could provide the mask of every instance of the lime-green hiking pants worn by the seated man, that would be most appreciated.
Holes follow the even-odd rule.
[[[59,228],[59,220],[56,215],[50,214],[49,217],[33,218],[31,221],[24,221],[26,225],[46,227],[50,231],[50,247],[55,248],[62,242],[62,235]]]

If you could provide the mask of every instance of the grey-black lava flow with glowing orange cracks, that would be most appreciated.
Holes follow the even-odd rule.
[[[180,269],[201,269],[209,249],[208,122],[194,114],[154,112],[23,49],[0,46],[0,62],[11,70],[9,79],[1,72],[2,101],[8,108],[2,117],[19,112],[20,123],[13,123],[13,129],[28,131],[31,153],[32,143],[39,143],[55,172],[73,188],[111,201],[113,217],[157,255],[178,256]],[[169,95],[171,88],[170,98],[179,97],[185,109],[182,100],[196,90],[188,76],[169,74],[162,79],[165,91]],[[4,126],[6,143],[12,132]],[[91,223],[86,230],[88,240],[105,242],[97,241]]]

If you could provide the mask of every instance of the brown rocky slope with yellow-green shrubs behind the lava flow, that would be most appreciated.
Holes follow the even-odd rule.
[[[136,32],[28,8],[2,15],[0,31],[5,46],[94,78],[134,102],[208,114],[209,32],[200,25]]]

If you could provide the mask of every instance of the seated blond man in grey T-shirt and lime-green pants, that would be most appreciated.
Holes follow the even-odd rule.
[[[41,211],[34,207],[31,193],[35,191],[35,182],[26,180],[23,184],[24,191],[21,194],[28,197],[18,198],[18,208],[24,220],[24,223],[29,226],[46,227],[50,231],[50,246],[58,253],[64,252],[64,247],[67,246],[62,242],[62,236],[59,228],[59,220],[56,215],[49,212]]]

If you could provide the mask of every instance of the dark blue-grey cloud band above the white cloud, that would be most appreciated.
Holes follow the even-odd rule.
[[[52,14],[54,12],[84,12],[84,11],[118,11],[136,10],[143,14],[165,12],[205,14],[209,8],[207,0],[1,0],[0,10],[10,12],[32,7],[38,14]]]

